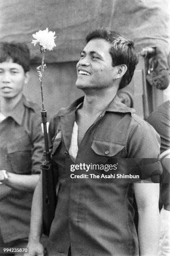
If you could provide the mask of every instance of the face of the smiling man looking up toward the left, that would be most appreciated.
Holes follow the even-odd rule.
[[[113,86],[115,72],[109,53],[110,43],[102,38],[90,40],[77,63],[76,86],[79,89],[106,88]]]

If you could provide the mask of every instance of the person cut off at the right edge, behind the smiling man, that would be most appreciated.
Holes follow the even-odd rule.
[[[170,255],[170,100],[164,102],[148,117],[148,123],[153,125],[160,135],[160,153],[163,175],[160,181],[160,248],[159,255]]]

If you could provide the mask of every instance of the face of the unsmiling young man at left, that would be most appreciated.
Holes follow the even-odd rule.
[[[27,79],[23,67],[12,59],[0,63],[0,97],[13,98],[22,94]]]

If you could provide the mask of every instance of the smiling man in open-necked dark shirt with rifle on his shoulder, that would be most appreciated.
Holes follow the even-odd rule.
[[[106,28],[89,33],[86,41],[77,63],[76,81],[85,96],[60,110],[50,122],[52,164],[59,178],[47,255],[137,256],[139,250],[140,255],[156,255],[159,184],[101,179],[103,165],[114,166],[108,177],[126,174],[126,159],[149,158],[147,178],[161,174],[158,134],[116,95],[130,83],[138,56],[132,41]],[[86,174],[83,179],[71,178],[70,162],[79,177]],[[83,164],[91,166],[88,172],[82,170]],[[138,235],[133,222],[134,192]],[[39,182],[32,204],[31,256],[43,255],[42,212],[37,215],[42,209],[41,194]]]

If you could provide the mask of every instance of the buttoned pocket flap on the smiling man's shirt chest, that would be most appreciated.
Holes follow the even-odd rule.
[[[97,141],[92,142],[92,150],[95,151],[97,155],[100,156],[115,156],[117,155],[125,145],[107,142],[107,141]]]

